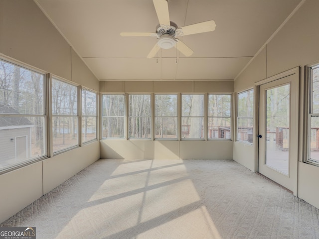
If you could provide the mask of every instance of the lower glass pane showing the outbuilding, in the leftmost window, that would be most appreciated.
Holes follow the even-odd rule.
[[[0,117],[0,168],[47,155],[44,117]]]

